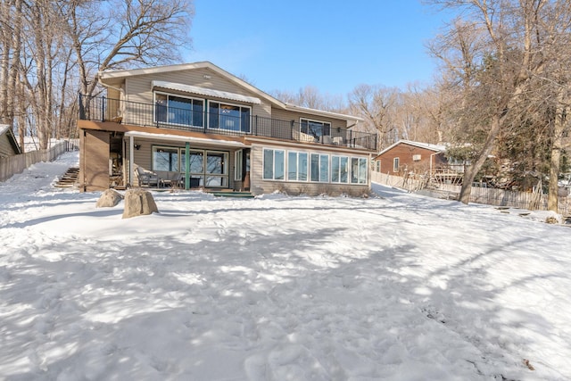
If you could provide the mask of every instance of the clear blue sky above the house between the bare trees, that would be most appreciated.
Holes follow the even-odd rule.
[[[347,95],[432,80],[426,42],[444,15],[419,0],[194,0],[186,62],[211,61],[263,91]]]

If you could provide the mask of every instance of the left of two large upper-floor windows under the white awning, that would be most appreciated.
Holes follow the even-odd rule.
[[[154,120],[161,123],[203,127],[204,101],[179,95],[154,94]]]

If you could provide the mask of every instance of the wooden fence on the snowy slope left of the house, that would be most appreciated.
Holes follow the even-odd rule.
[[[46,150],[30,151],[0,158],[0,181],[12,178],[16,173],[21,173],[37,162],[52,162],[62,153],[75,150],[77,146],[74,141],[62,141]]]

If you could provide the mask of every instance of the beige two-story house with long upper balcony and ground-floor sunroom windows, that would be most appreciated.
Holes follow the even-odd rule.
[[[377,136],[360,118],[286,104],[211,62],[105,70],[80,99],[79,182],[363,195]],[[142,180],[141,170],[156,176]]]

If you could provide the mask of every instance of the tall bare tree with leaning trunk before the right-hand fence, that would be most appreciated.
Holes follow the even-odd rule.
[[[458,127],[472,124],[485,133],[460,191],[460,201],[468,203],[472,181],[494,150],[497,137],[517,120],[515,112],[529,109],[521,104],[528,102],[533,79],[545,69],[549,46],[542,35],[549,11],[544,0],[430,3],[458,9],[468,18],[452,24],[448,38],[438,38],[432,49],[445,62],[453,79],[448,82],[456,87],[461,100]]]

